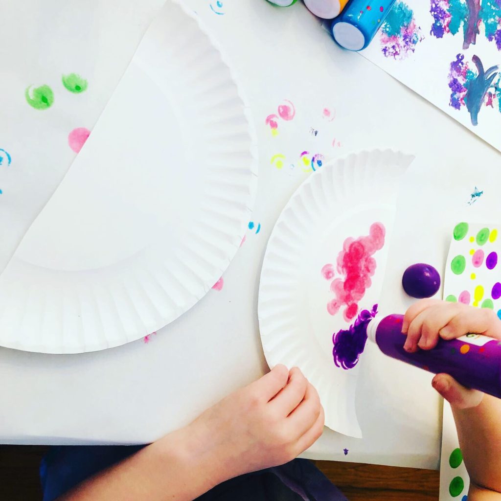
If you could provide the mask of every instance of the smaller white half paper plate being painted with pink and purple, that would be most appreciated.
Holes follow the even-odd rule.
[[[334,365],[332,335],[353,320],[344,308],[331,315],[331,283],[346,238],[369,235],[372,223],[386,229],[384,245],[373,254],[376,269],[358,302],[370,309],[378,302],[384,278],[395,199],[401,174],[413,157],[393,151],[353,154],[324,164],[294,193],[282,211],[265,254],[259,291],[261,340],[268,364],[298,366],[316,387],[333,430],[361,437],[355,412],[358,366]],[[333,264],[334,277],[322,269]]]

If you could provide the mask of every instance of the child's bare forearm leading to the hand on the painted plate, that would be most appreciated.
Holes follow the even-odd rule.
[[[58,501],[191,501],[226,478],[188,428],[85,480]]]

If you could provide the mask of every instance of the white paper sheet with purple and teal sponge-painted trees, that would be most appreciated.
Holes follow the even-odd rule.
[[[501,7],[487,0],[458,0],[454,5],[459,10],[452,4],[449,0],[397,0],[361,54],[501,149],[501,72],[497,67],[488,72],[501,64]],[[480,4],[478,18],[468,14],[468,4]],[[463,17],[478,27],[476,37],[470,36]],[[475,65],[476,57],[483,76]],[[402,121],[411,125],[405,107]]]

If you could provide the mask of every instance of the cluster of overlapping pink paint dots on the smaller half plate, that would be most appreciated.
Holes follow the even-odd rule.
[[[331,291],[336,298],[327,304],[327,311],[336,315],[341,307],[343,318],[349,322],[358,312],[358,302],[365,291],[372,285],[371,277],[376,271],[373,254],[383,248],[384,225],[380,222],[371,224],[369,234],[357,239],[348,237],[343,243],[343,250],[338,254],[337,271],[344,275],[344,280],[336,278],[331,283]]]

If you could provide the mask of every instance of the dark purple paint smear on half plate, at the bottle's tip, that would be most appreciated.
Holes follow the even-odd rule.
[[[332,356],[336,367],[353,369],[367,342],[367,325],[377,314],[377,305],[372,310],[362,310],[355,323],[348,330],[340,330],[332,335]]]

